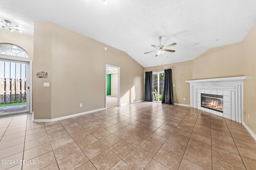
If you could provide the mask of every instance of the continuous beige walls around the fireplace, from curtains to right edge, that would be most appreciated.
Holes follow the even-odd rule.
[[[174,68],[174,103],[190,104],[182,101],[190,98],[189,83],[185,80],[246,76],[244,80],[244,119],[246,125],[256,134],[256,25],[252,27],[240,43],[210,49],[187,62],[145,68],[144,71]],[[161,57],[161,56],[160,56]],[[179,89],[178,89],[179,88]],[[250,118],[248,118],[248,113]]]

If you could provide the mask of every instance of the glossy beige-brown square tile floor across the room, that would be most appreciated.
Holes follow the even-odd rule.
[[[0,160],[1,170],[255,170],[256,141],[229,119],[140,102],[51,123],[1,118]]]

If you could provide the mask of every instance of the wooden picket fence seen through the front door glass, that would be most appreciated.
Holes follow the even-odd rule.
[[[26,78],[0,78],[0,104],[26,102]]]

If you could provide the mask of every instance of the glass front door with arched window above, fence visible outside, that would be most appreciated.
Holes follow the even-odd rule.
[[[32,110],[32,61],[25,58],[28,54],[24,49],[12,44],[0,44],[0,117]]]

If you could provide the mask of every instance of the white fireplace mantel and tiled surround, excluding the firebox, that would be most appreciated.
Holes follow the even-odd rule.
[[[239,76],[186,81],[190,83],[190,107],[242,123],[245,78],[245,76]],[[222,95],[223,113],[201,107],[201,93]]]

